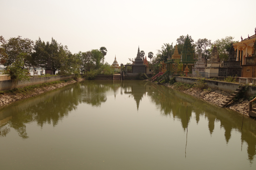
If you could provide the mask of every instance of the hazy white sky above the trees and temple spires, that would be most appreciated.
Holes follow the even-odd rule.
[[[104,46],[112,64],[126,64],[180,35],[194,41],[254,34],[255,0],[0,0],[0,35],[40,37],[67,45],[74,54]],[[147,55],[148,56],[148,55]]]

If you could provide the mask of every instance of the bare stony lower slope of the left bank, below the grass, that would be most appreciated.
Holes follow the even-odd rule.
[[[80,79],[82,80],[82,79]],[[3,107],[7,104],[10,104],[14,101],[17,101],[17,100],[20,100],[20,99],[25,99],[25,98],[28,98],[28,97],[31,97],[31,96],[35,96],[37,94],[41,94],[43,92],[47,92],[47,91],[50,91],[50,90],[53,90],[53,89],[57,89],[57,88],[60,88],[60,87],[63,87],[63,86],[66,86],[66,85],[69,85],[69,84],[72,84],[72,83],[75,83],[77,82],[76,80],[74,79],[71,79],[67,82],[63,82],[63,83],[59,83],[59,84],[54,84],[54,85],[49,85],[49,86],[46,86],[46,87],[40,87],[40,88],[36,88],[34,89],[34,91],[32,92],[29,92],[29,93],[12,93],[12,92],[7,92],[7,93],[4,93],[4,94],[0,94],[0,107]]]

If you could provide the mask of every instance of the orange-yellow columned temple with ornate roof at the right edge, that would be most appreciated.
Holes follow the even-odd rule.
[[[243,39],[241,42],[234,43],[236,50],[236,61],[241,61],[242,77],[255,78],[256,77],[256,28],[255,34]]]

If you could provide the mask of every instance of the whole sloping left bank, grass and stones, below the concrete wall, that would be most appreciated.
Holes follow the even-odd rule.
[[[78,81],[82,81],[83,79],[80,78]],[[31,96],[35,96],[37,94],[41,94],[43,92],[47,92],[53,89],[57,89],[72,83],[77,82],[74,79],[66,80],[66,81],[57,81],[52,83],[44,83],[41,85],[35,85],[35,86],[27,86],[24,88],[14,89],[10,91],[4,91],[2,94],[0,94],[0,107],[3,107],[5,105],[8,105],[14,101],[25,99]]]

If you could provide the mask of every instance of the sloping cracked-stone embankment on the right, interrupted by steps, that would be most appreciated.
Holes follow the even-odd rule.
[[[165,86],[168,86],[170,88],[173,88],[173,85],[170,84],[165,84]],[[177,90],[177,89],[175,89]],[[230,96],[231,94],[228,92],[224,92],[221,90],[214,90],[214,89],[209,89],[209,90],[201,90],[201,89],[197,89],[195,87],[193,88],[189,88],[187,90],[184,90],[182,92],[185,92],[187,94],[190,94],[192,96],[201,98],[207,102],[210,102],[212,104],[218,105],[220,106],[220,104],[226,100],[226,98],[228,96]],[[248,115],[249,113],[249,100],[248,99],[240,99],[238,101],[231,101],[230,103],[228,103],[228,105],[226,106],[229,109],[232,109],[234,111],[237,111],[241,114],[245,114]]]

